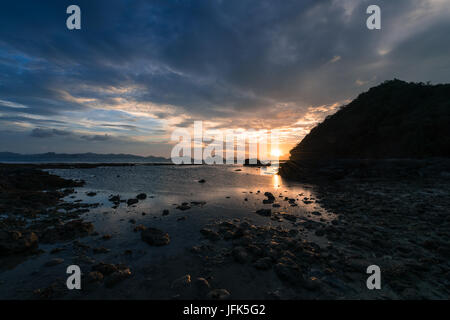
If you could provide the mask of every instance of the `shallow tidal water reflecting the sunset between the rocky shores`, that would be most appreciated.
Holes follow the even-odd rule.
[[[180,255],[186,249],[205,241],[200,230],[217,220],[248,220],[256,225],[271,225],[281,228],[292,228],[288,221],[274,221],[255,213],[262,208],[271,208],[272,212],[290,213],[303,216],[305,219],[323,223],[334,219],[334,215],[326,213],[314,201],[311,186],[286,182],[274,172],[265,168],[242,166],[145,166],[133,167],[98,167],[92,169],[54,169],[53,174],[68,179],[83,179],[86,184],[77,188],[76,193],[65,198],[65,201],[82,201],[83,203],[99,203],[95,209],[82,215],[85,221],[93,222],[98,236],[79,239],[91,248],[105,247],[111,251],[104,254],[89,254],[98,261],[109,263],[125,263],[136,269],[139,266],[157,263],[161,259]],[[198,181],[204,179],[205,183]],[[95,192],[93,197],[86,193]],[[271,204],[263,204],[265,192],[271,192],[279,208]],[[121,199],[135,198],[139,193],[146,193],[147,199],[138,204],[128,206],[121,203],[112,208],[108,198],[120,195]],[[297,199],[298,206],[290,206],[285,197]],[[247,201],[245,199],[247,198]],[[305,204],[302,199],[308,198],[312,203]],[[176,207],[183,202],[205,202],[204,205],[192,205],[191,209],[181,211]],[[169,215],[162,216],[164,209]],[[319,211],[321,216],[312,215]],[[181,219],[180,219],[181,218]],[[130,219],[135,221],[130,223]],[[324,221],[327,220],[327,221]],[[170,235],[170,244],[164,247],[150,247],[134,232],[136,225],[155,227]],[[105,234],[110,240],[103,240]],[[310,240],[317,239],[313,234],[305,234]],[[326,244],[326,243],[323,243]],[[64,251],[57,255],[49,254],[55,247],[63,247]],[[45,252],[11,266],[0,274],[0,296],[2,298],[20,298],[22,290],[32,290],[45,286],[49,279],[65,278],[65,268],[70,264],[83,265],[74,256],[72,242],[56,245],[40,245]],[[133,255],[124,255],[125,250],[132,250]],[[46,268],[43,264],[52,258],[61,257],[63,264]],[[19,280],[20,279],[20,280]],[[12,294],[15,292],[14,294]]]

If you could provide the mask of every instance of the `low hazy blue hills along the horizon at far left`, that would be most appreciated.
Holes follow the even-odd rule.
[[[170,159],[154,156],[137,156],[132,154],[98,154],[98,153],[39,153],[20,154],[0,152],[0,162],[6,163],[169,163]]]

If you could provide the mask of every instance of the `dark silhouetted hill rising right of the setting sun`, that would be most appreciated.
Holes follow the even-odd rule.
[[[313,128],[291,150],[280,174],[297,179],[319,171],[336,174],[344,163],[370,169],[379,160],[448,157],[450,84],[395,79],[360,94]]]

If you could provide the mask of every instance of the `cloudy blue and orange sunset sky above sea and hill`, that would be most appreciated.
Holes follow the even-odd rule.
[[[449,17],[447,0],[2,1],[0,151],[168,157],[202,120],[277,130],[286,155],[385,80],[450,82]]]

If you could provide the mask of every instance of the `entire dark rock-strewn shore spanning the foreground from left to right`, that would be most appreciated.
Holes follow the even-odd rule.
[[[249,190],[241,193],[241,199],[227,200],[241,201],[242,208],[255,203],[255,210],[245,217],[212,219],[198,231],[190,230],[190,220],[209,202],[173,204],[173,210],[148,217],[145,212],[134,213],[135,206],[152,195],[110,195],[109,210],[119,207],[135,214],[117,223],[127,226],[137,242],[116,239],[117,233],[96,232],[94,224],[84,219],[96,204],[63,200],[78,192],[83,181],[32,168],[2,167],[0,172],[0,275],[2,266],[18,257],[14,263],[37,259],[44,250],[52,257],[45,258],[44,269],[77,264],[83,270],[81,291],[67,290],[65,269],[56,278],[31,272],[36,280],[30,284],[33,289],[12,298],[20,294],[22,299],[448,299],[450,295],[450,182],[445,171],[426,169],[429,175],[407,179],[322,177],[305,186],[312,192],[308,195],[288,194],[283,188],[277,193]],[[87,197],[95,195],[86,192]],[[309,211],[299,214],[303,212],[299,208],[308,206]],[[147,222],[141,224],[139,216],[148,217]],[[167,224],[149,223],[163,219],[172,219],[178,227],[168,231]],[[192,233],[188,237],[195,244],[181,253],[164,254],[186,232]],[[156,251],[162,258],[144,259]],[[381,290],[366,287],[366,269],[374,264],[381,269]]]

